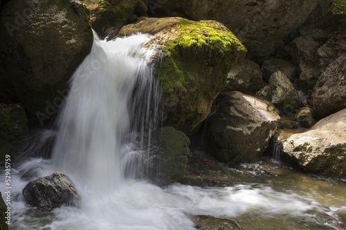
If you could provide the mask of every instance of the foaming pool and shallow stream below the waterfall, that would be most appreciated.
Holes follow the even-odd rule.
[[[220,170],[205,168],[205,175],[187,173],[188,177],[219,181],[218,187],[176,183],[161,188],[129,179],[108,195],[100,195],[71,177],[82,197],[80,207],[42,213],[28,207],[21,195],[32,179],[25,172],[35,178],[51,175],[53,165],[51,160],[32,158],[12,170],[10,229],[183,230],[194,229],[191,215],[228,218],[244,229],[346,227],[345,181],[297,173],[269,158],[237,169],[218,166]]]

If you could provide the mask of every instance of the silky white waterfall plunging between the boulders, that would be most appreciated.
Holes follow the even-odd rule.
[[[127,175],[138,174],[131,167],[138,160],[133,145],[143,144],[140,136],[155,126],[152,113],[158,107],[152,66],[147,64],[153,50],[143,48],[149,39],[138,34],[107,42],[94,32],[90,55],[71,77],[57,119],[53,164],[94,191],[116,189],[125,169]]]

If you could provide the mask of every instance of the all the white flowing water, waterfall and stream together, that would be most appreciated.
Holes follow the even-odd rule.
[[[280,162],[223,166],[215,172],[227,181],[222,187],[161,188],[136,179],[143,170],[136,149],[150,140],[159,117],[158,86],[147,64],[154,50],[143,48],[149,39],[95,36],[71,79],[56,133],[47,131],[56,137],[51,159],[31,157],[12,168],[10,229],[184,230],[195,229],[192,215],[229,218],[244,229],[345,228],[346,182],[296,173]],[[55,171],[69,175],[80,207],[49,213],[28,207],[24,186]]]

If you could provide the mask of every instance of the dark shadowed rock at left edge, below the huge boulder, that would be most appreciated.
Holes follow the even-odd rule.
[[[0,162],[12,147],[28,133],[28,119],[21,104],[0,102]]]

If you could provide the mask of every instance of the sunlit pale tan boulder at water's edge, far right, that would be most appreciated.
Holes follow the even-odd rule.
[[[346,108],[291,135],[282,151],[307,173],[346,178]]]

